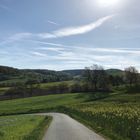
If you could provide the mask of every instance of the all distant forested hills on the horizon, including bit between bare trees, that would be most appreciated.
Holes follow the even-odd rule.
[[[108,69],[109,75],[120,76],[122,70]],[[33,80],[34,83],[48,83],[72,80],[81,77],[84,69],[53,71],[45,69],[17,69],[7,66],[0,66],[0,86],[14,86],[17,83],[26,83]]]

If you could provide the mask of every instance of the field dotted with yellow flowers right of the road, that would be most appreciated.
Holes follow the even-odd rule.
[[[139,101],[140,95],[117,95],[67,106],[64,111],[113,140],[140,140]]]

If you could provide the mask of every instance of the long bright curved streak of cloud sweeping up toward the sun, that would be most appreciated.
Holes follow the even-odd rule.
[[[114,15],[106,16],[103,18],[98,19],[97,21],[83,25],[83,26],[77,26],[77,27],[67,27],[62,28],[56,31],[53,31],[51,33],[30,33],[30,32],[23,32],[23,33],[17,33],[10,37],[8,37],[3,42],[0,42],[0,45],[11,43],[14,41],[19,41],[22,39],[30,39],[30,40],[40,40],[40,39],[49,39],[49,38],[60,38],[60,37],[67,37],[67,36],[73,36],[73,35],[79,35],[79,34],[85,34],[88,33],[101,25],[103,25],[106,21],[113,18]],[[61,44],[52,44],[52,43],[46,43],[48,45],[54,45],[54,46],[61,46]]]

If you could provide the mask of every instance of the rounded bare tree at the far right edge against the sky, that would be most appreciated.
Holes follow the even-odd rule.
[[[126,83],[128,83],[130,86],[132,86],[133,84],[137,84],[139,80],[138,70],[133,66],[126,68],[125,80],[126,80]]]

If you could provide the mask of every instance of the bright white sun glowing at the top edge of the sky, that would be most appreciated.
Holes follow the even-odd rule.
[[[117,6],[121,0],[97,0],[98,4],[103,7]]]

